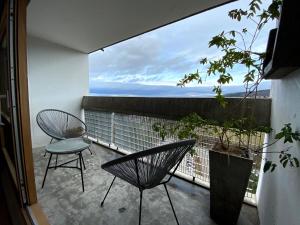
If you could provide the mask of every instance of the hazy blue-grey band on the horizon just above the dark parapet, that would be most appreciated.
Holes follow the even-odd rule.
[[[261,83],[261,89],[268,89],[270,83]],[[90,94],[102,96],[143,96],[143,97],[213,97],[211,86],[177,87],[164,85],[143,85],[136,83],[95,83],[90,82]],[[224,86],[225,95],[242,93],[243,85]]]

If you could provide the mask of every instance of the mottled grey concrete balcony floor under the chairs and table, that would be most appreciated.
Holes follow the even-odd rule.
[[[80,172],[64,168],[49,170],[45,187],[41,189],[49,155],[44,157],[44,150],[41,148],[33,150],[38,201],[50,224],[138,224],[139,191],[120,179],[116,179],[104,207],[100,207],[113,179],[100,166],[119,155],[98,145],[93,145],[92,151],[95,154],[90,155],[85,151],[83,156],[87,169],[84,171],[85,192],[82,192]],[[66,158],[68,157],[60,156],[59,161],[65,161]],[[177,178],[172,178],[168,189],[181,225],[215,224],[209,217],[208,190]],[[144,192],[142,224],[176,224],[162,186]],[[258,225],[256,208],[243,205],[238,224]]]

